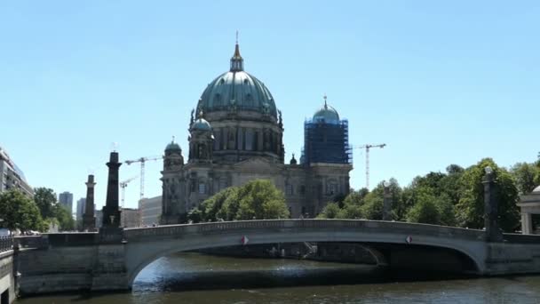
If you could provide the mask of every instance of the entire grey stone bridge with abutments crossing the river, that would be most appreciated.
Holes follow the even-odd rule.
[[[540,236],[376,220],[247,220],[49,234],[19,239],[20,292],[127,290],[139,271],[173,252],[249,244],[363,244],[389,268],[494,276],[540,272]]]

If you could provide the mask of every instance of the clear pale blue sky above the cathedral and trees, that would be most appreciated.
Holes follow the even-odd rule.
[[[226,71],[240,31],[245,69],[282,109],[286,159],[330,105],[372,150],[371,184],[540,150],[538,1],[16,1],[0,3],[0,145],[34,187],[85,195],[107,161],[159,156]],[[186,156],[187,153],[185,152]],[[351,185],[364,183],[354,153]],[[147,196],[161,195],[147,164]],[[121,180],[139,173],[123,165]],[[135,207],[139,181],[127,188]]]

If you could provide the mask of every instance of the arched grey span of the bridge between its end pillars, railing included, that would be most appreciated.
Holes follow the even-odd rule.
[[[242,244],[300,242],[349,242],[365,244],[410,244],[445,248],[470,259],[477,274],[485,271],[484,232],[424,224],[373,220],[247,220],[124,231],[127,244],[125,267],[131,288],[135,277],[151,262],[175,252]]]

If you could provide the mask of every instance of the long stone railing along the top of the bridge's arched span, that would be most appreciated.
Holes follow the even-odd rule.
[[[242,229],[332,229],[371,230],[377,232],[403,233],[423,236],[457,236],[465,239],[483,239],[485,232],[476,229],[453,228],[428,224],[393,222],[382,220],[238,220],[198,224],[167,225],[152,228],[127,228],[124,236],[130,239],[152,236],[181,236],[189,234],[226,233]]]

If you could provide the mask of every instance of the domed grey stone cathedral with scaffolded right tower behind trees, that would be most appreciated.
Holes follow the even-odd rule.
[[[284,164],[282,112],[258,78],[246,73],[236,43],[229,71],[216,77],[191,112],[187,160],[179,144],[165,148],[162,224],[177,224],[220,190],[272,180],[290,216],[314,217],[349,192],[353,169],[348,123],[324,104],[304,123],[304,148]]]

